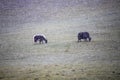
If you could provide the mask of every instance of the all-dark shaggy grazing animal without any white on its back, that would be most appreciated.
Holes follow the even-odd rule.
[[[88,32],[80,32],[78,33],[78,42],[81,41],[81,39],[84,39],[85,41],[91,41],[90,34]]]

